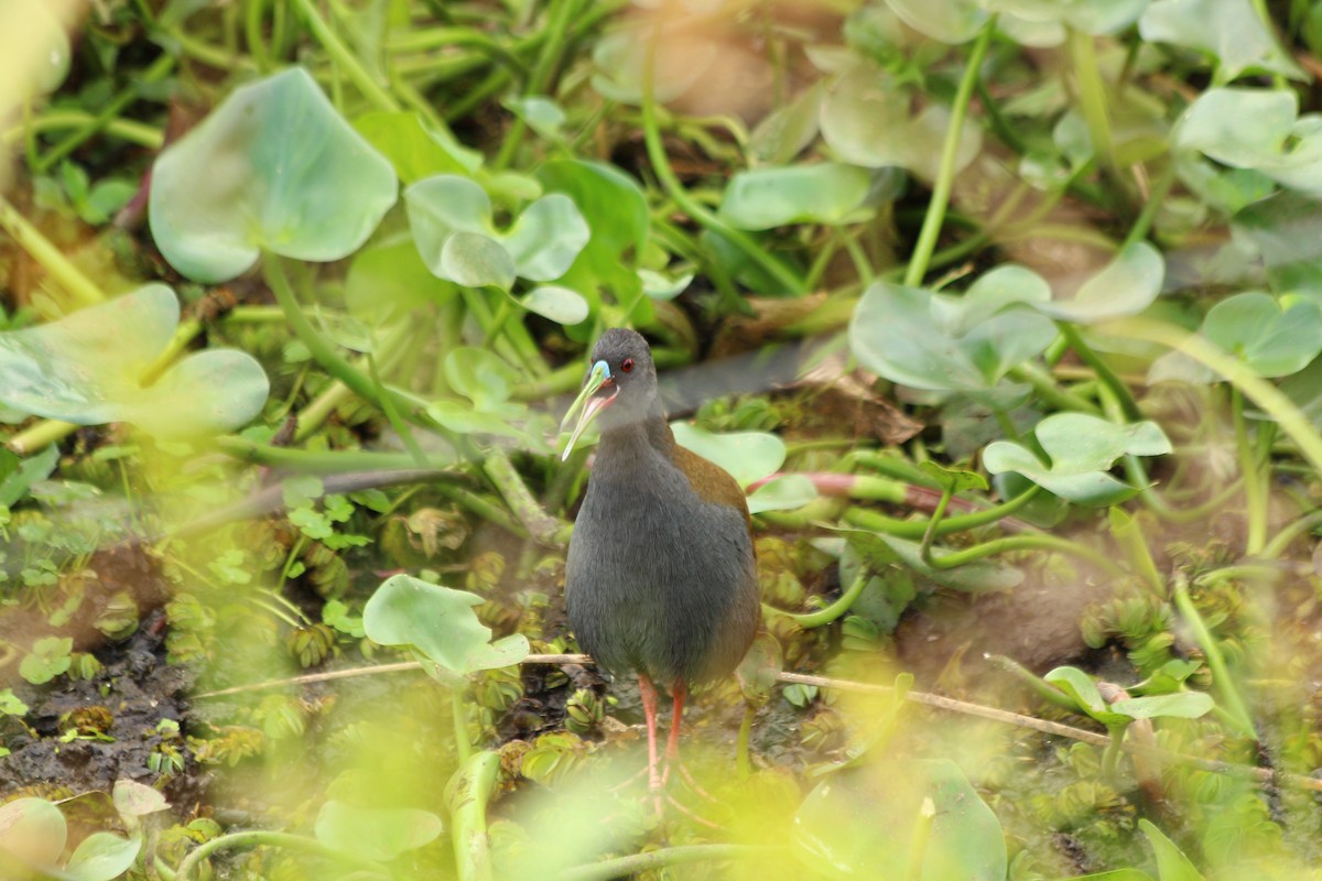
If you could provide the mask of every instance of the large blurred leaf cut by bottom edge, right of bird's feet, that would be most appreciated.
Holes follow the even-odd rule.
[[[914,827],[927,799],[935,815],[916,860],[921,872],[911,876]],[[859,818],[867,818],[866,835]],[[1003,881],[1006,874],[995,814],[948,759],[892,759],[833,774],[800,806],[791,847],[812,872],[838,878]]]

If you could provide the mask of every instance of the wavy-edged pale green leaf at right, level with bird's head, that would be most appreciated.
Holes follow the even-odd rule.
[[[1116,425],[1085,413],[1055,413],[1034,429],[1050,458],[1011,441],[994,441],[982,452],[988,472],[1015,472],[1038,486],[1077,505],[1113,505],[1138,489],[1107,472],[1121,456],[1163,456],[1170,441],[1155,423]]]

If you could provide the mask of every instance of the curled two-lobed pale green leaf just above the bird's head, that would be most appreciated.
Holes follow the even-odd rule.
[[[465,177],[428,177],[405,190],[405,201],[423,262],[436,276],[465,287],[509,291],[516,276],[558,279],[591,238],[563,194],[533,202],[509,232],[494,229],[490,198]]]

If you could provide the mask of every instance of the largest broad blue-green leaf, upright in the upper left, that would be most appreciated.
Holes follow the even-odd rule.
[[[152,236],[185,276],[225,281],[262,250],[340,260],[366,242],[397,195],[390,162],[308,71],[292,67],[235,88],[160,155]]]

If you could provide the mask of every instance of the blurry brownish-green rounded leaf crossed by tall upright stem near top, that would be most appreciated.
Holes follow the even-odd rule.
[[[822,139],[842,161],[865,168],[898,165],[933,180],[951,112],[941,104],[929,104],[915,116],[910,95],[890,74],[861,63],[828,88],[820,124]],[[964,125],[954,170],[972,162],[981,145],[981,131]]]

